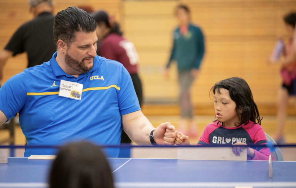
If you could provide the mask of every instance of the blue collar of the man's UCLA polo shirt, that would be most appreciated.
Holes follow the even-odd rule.
[[[62,70],[62,68],[59,66],[59,64],[56,61],[56,57],[57,57],[57,52],[54,52],[54,54],[52,55],[52,59],[50,60],[50,65],[52,67],[52,72],[53,72],[54,76],[55,77],[67,76],[69,78],[73,78],[74,76],[68,75],[67,73],[65,73],[64,70]],[[90,73],[94,72],[98,68],[98,64],[99,64],[98,57],[99,56],[96,55],[96,57],[94,58],[94,67],[89,72],[79,75],[79,77],[87,76]]]

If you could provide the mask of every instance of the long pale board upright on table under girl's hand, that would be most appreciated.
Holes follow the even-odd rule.
[[[235,156],[231,147],[178,147],[177,159],[246,161],[247,150]]]

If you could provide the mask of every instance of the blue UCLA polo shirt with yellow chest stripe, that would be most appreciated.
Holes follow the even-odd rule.
[[[57,52],[49,62],[10,78],[0,89],[0,110],[7,119],[19,113],[27,145],[120,144],[121,115],[141,110],[128,71],[96,56],[94,67],[76,78],[59,67],[56,57]],[[58,95],[61,80],[83,84],[80,101]],[[106,152],[118,157],[119,148]],[[54,154],[53,149],[28,148],[24,156]]]

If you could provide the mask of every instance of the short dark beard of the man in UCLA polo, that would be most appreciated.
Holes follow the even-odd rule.
[[[91,58],[91,57],[85,57],[85,58],[83,58],[83,60],[81,62],[79,62],[79,61],[75,60],[74,58],[72,58],[68,53],[66,53],[65,62],[73,70],[78,71],[80,73],[87,73],[94,67],[94,57],[92,57],[93,64],[91,67],[87,67],[85,65],[85,63],[83,62],[85,59],[89,59],[89,58]]]

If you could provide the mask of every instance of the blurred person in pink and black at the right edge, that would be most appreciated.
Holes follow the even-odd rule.
[[[296,12],[285,15],[284,22],[289,33],[289,41],[287,44],[284,44],[282,39],[279,38],[271,58],[268,59],[268,63],[270,64],[281,64],[281,77],[283,80],[278,95],[278,125],[273,137],[277,144],[283,144],[285,142],[284,126],[289,98],[296,99]],[[284,58],[280,58],[281,54],[284,54]]]

